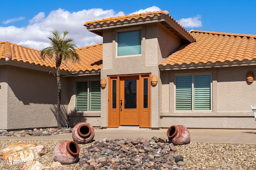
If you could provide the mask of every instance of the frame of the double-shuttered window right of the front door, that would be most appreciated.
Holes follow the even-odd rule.
[[[200,110],[200,109],[194,109],[194,76],[195,75],[210,75],[210,109],[209,110]],[[177,76],[192,76],[192,109],[191,110],[181,110],[176,109],[176,77]],[[190,73],[190,74],[174,74],[174,111],[176,112],[212,112],[212,73],[206,72],[206,73]]]

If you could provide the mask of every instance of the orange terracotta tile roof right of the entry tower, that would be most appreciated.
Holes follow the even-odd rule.
[[[256,35],[194,30],[191,34],[196,42],[182,45],[160,67],[256,59]]]

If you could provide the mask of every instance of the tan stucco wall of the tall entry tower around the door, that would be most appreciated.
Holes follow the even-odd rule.
[[[132,27],[127,27],[132,28]],[[151,73],[160,77],[158,64],[173,52],[180,45],[180,39],[170,33],[166,28],[158,23],[148,25],[138,25],[142,29],[142,55],[116,57],[116,30],[106,30],[103,32],[103,69],[101,78],[110,75],[142,74]],[[122,28],[125,30],[124,28]],[[118,29],[117,29],[118,30]],[[151,86],[151,127],[162,126],[159,119],[159,103],[162,101],[162,84],[158,80],[156,86]],[[108,93],[107,87],[102,89],[102,109],[101,127],[107,127],[108,123]]]

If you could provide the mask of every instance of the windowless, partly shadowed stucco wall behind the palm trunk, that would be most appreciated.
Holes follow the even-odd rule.
[[[4,129],[56,127],[54,106],[57,104],[56,77],[49,72],[15,66],[5,67],[4,84],[7,100],[7,126]],[[1,83],[2,84],[2,83]],[[62,110],[67,110],[67,79],[61,78]]]

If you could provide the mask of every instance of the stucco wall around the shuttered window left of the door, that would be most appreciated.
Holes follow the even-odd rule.
[[[68,117],[71,126],[79,122],[85,121],[94,127],[100,127],[101,117],[100,111],[76,111],[76,82],[99,81],[100,75],[74,76],[68,79],[69,104]]]

